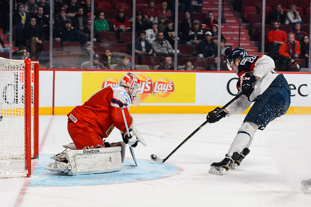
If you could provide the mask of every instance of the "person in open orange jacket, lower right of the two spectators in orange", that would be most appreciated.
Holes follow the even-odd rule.
[[[295,40],[294,33],[289,33],[288,39],[281,44],[279,55],[281,56],[282,69],[285,67],[297,66],[295,59],[298,59],[300,55],[300,44],[299,41]]]

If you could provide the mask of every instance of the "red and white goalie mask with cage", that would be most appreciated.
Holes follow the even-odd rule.
[[[137,96],[141,89],[139,79],[133,73],[127,73],[122,76],[119,85],[128,87],[132,105],[140,106],[140,97]]]

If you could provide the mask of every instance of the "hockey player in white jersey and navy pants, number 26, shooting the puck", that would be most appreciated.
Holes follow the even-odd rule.
[[[273,119],[284,115],[290,106],[290,87],[283,74],[276,74],[274,61],[266,55],[248,56],[243,48],[231,51],[227,59],[229,70],[239,76],[237,100],[222,110],[219,107],[207,115],[209,123],[215,123],[225,116],[244,112],[252,102],[253,106],[239,128],[225,159],[211,164],[209,173],[222,175],[234,169],[250,152],[249,147],[257,129],[263,130]]]

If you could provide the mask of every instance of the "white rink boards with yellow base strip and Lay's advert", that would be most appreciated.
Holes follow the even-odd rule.
[[[127,71],[41,70],[39,115],[66,115],[92,94],[117,85]],[[131,113],[206,113],[223,106],[237,93],[232,72],[134,72],[142,81],[140,107]],[[283,73],[292,89],[289,114],[311,114],[309,73]],[[246,111],[247,112],[247,111]]]

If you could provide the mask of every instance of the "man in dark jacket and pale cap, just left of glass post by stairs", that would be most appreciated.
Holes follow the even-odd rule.
[[[200,46],[200,54],[197,57],[214,57],[216,53],[216,44],[212,39],[212,34],[210,31],[205,33],[205,39],[201,41]]]

